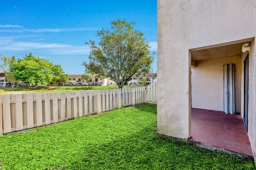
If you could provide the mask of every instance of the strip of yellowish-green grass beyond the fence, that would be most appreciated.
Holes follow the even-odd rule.
[[[129,88],[136,88],[142,86],[124,86]],[[146,86],[145,86],[146,87]],[[118,89],[118,86],[40,86],[40,87],[6,87],[0,88],[0,94],[19,94],[19,93],[45,93],[45,92],[77,92],[82,90],[106,90]]]

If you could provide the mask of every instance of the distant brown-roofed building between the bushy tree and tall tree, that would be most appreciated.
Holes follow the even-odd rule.
[[[90,75],[91,77],[91,84],[97,84],[101,86],[110,86],[115,85],[116,83],[113,80],[110,80],[109,78],[104,78],[102,76],[97,75]],[[82,82],[82,74],[76,74],[76,75],[68,75],[68,84],[73,85],[84,85],[85,82]]]

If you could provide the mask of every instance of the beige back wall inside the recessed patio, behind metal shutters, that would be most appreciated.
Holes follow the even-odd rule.
[[[192,107],[223,111],[223,65],[235,64],[235,111],[241,111],[241,57],[197,61],[192,67]]]

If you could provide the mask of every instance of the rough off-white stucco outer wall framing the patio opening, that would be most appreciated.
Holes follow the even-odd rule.
[[[160,134],[188,138],[191,117],[190,49],[253,39],[256,35],[256,1],[158,0],[157,6],[157,130]],[[252,40],[249,52],[248,136],[254,158],[256,156],[255,49],[255,41]],[[198,62],[199,66],[204,62],[207,61]],[[243,63],[242,59],[240,62]],[[238,65],[237,63],[237,68]],[[220,85],[216,84],[216,88],[218,86]]]

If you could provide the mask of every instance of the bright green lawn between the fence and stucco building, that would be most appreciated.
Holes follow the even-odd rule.
[[[252,160],[158,135],[155,104],[10,133],[0,146],[2,170],[254,169]]]

